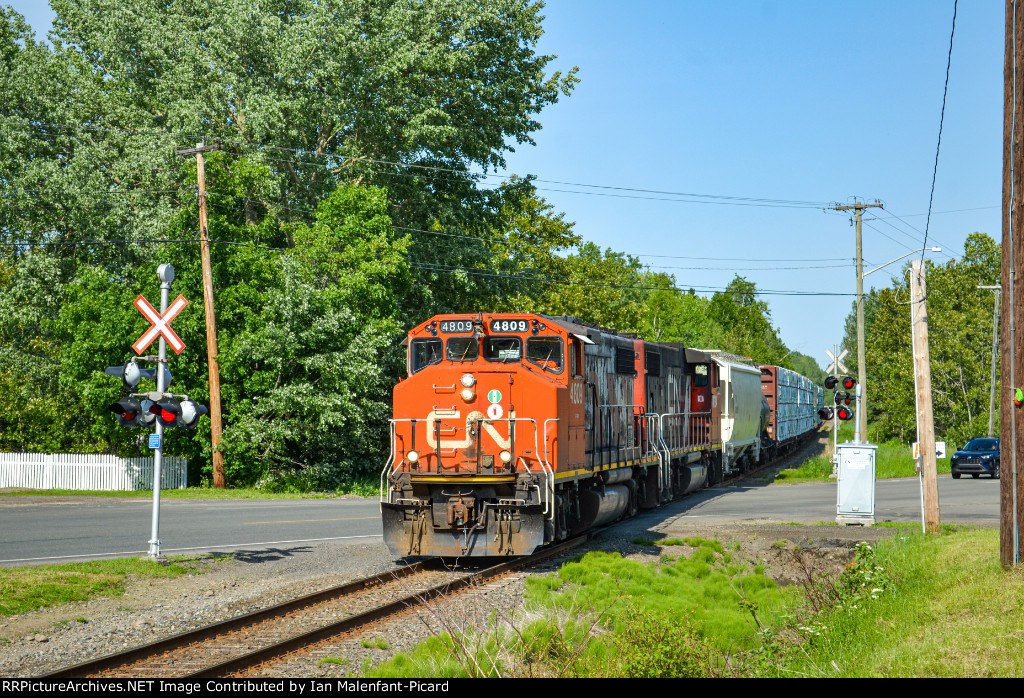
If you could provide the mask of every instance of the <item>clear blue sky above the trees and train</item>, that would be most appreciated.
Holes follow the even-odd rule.
[[[10,4],[49,30],[46,3]],[[683,289],[738,273],[761,290],[851,294],[763,296],[786,345],[824,366],[856,276],[851,216],[822,208],[885,203],[864,215],[865,270],[924,247],[952,0],[552,0],[543,13],[540,50],[581,82],[507,173],[544,180],[585,238]],[[959,4],[928,237],[940,263],[971,232],[999,238],[1002,36],[1002,3]],[[888,285],[902,264],[867,280]]]

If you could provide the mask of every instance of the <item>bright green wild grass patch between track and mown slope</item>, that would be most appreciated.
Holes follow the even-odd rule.
[[[530,577],[516,617],[493,616],[487,628],[437,618],[443,631],[366,675],[725,675],[725,657],[759,647],[759,628],[781,622],[799,595],[718,540],[674,542],[684,550],[657,562],[588,553]]]

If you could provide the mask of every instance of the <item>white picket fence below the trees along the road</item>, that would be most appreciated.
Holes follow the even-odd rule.
[[[0,453],[0,487],[153,489],[153,459],[81,453]],[[188,459],[165,455],[160,488],[188,486]]]

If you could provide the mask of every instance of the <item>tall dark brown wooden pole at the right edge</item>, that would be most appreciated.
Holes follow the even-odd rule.
[[[1002,300],[1000,345],[1000,454],[999,562],[1004,567],[1021,561],[1021,516],[1024,481],[1018,460],[1024,453],[1022,415],[1014,404],[1014,390],[1024,378],[1024,352],[1016,345],[1017,324],[1024,322],[1024,303],[1015,281],[1024,272],[1024,8],[1007,0],[1006,40],[1002,58]]]

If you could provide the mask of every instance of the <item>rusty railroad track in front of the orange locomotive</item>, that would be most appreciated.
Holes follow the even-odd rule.
[[[438,561],[415,563],[45,675],[213,679],[258,671],[317,643],[541,564],[587,537],[476,570],[452,570]]]

